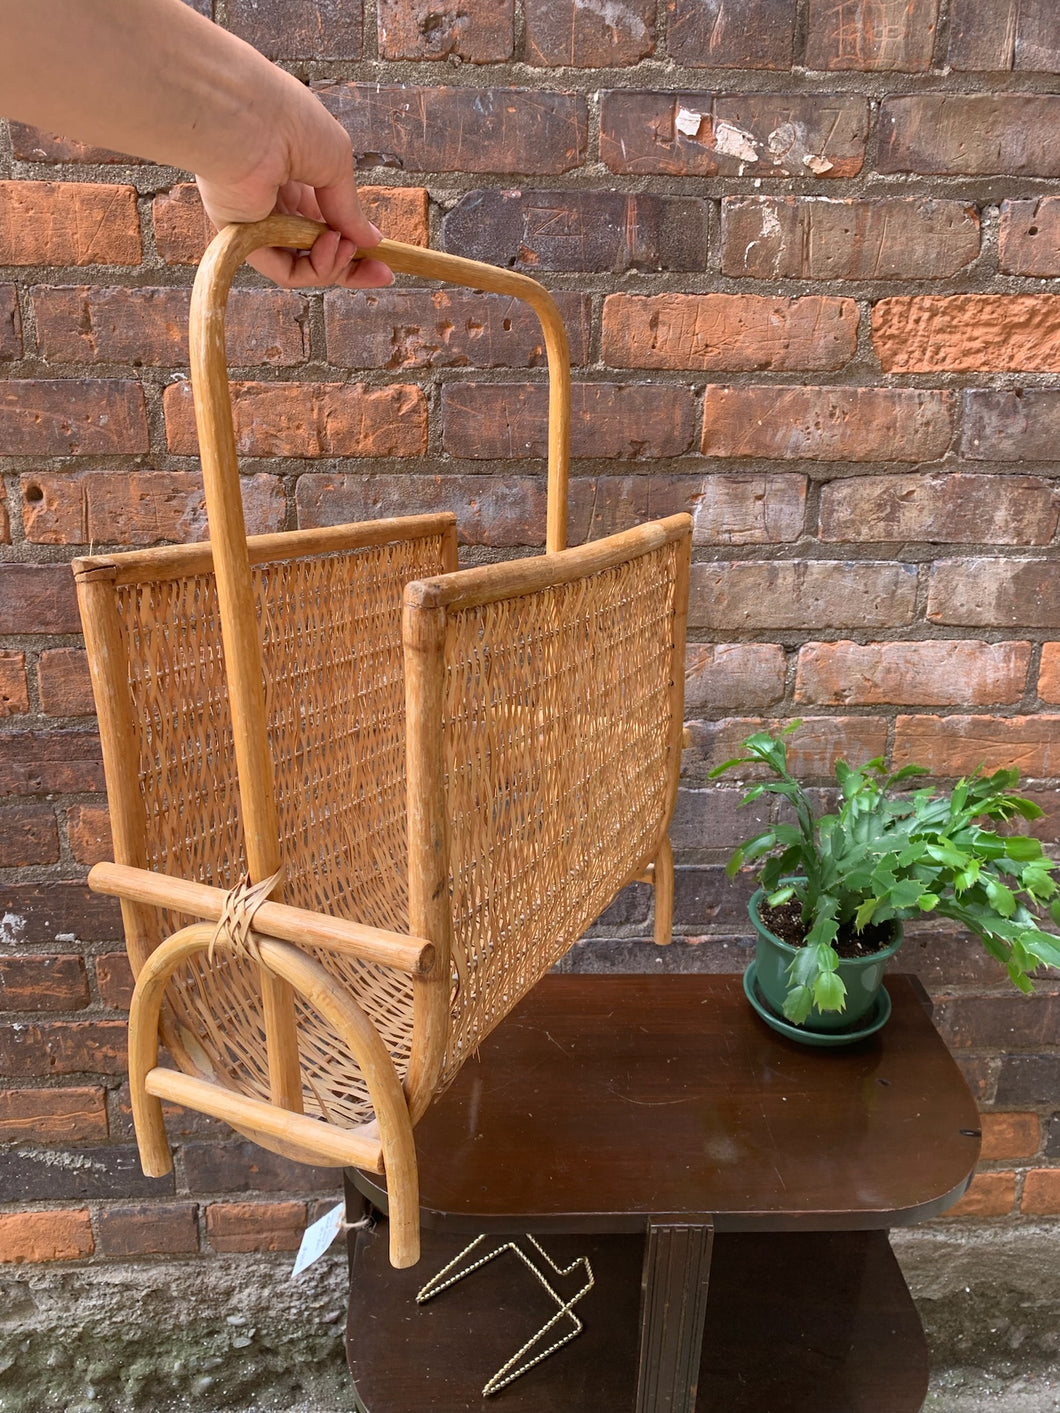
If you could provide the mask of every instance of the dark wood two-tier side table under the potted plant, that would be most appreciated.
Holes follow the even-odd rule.
[[[806,1050],[739,976],[547,976],[417,1129],[424,1259],[351,1234],[348,1358],[367,1413],[914,1413],[923,1328],[888,1228],[965,1190],[975,1104],[923,989]],[[386,1211],[351,1173],[351,1207]],[[585,1332],[483,1399],[548,1304],[502,1258],[420,1286],[478,1234],[587,1255]],[[561,1291],[563,1293],[563,1291]],[[704,1334],[705,1331],[705,1334]]]

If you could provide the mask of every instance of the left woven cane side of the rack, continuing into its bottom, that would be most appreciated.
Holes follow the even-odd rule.
[[[257,567],[266,711],[284,901],[407,931],[401,591],[442,569],[441,540]],[[245,868],[232,721],[212,575],[120,588],[140,742],[147,866],[230,887]],[[191,918],[170,916],[165,931]],[[404,1075],[411,985],[389,968],[305,948],[358,999]],[[222,1082],[267,1096],[256,966],[219,952],[171,988],[178,1022]],[[356,1065],[297,1003],[305,1112],[372,1116]]]

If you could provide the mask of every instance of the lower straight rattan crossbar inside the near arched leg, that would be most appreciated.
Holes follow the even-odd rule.
[[[209,1080],[196,1080],[191,1074],[165,1070],[161,1065],[147,1071],[144,1084],[147,1092],[157,1099],[181,1104],[196,1113],[209,1113],[235,1128],[253,1129],[300,1145],[336,1167],[383,1171],[382,1143],[379,1139],[363,1137],[355,1129],[343,1130],[334,1123],[310,1119],[304,1113],[291,1113],[276,1108],[267,1099],[252,1099],[246,1094],[211,1084]]]

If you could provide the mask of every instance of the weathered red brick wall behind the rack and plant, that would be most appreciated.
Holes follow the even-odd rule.
[[[199,4],[199,8],[204,8]],[[209,10],[209,4],[205,6]],[[391,236],[540,276],[571,328],[574,536],[695,517],[666,964],[732,969],[746,831],[707,770],[803,716],[803,766],[1015,762],[1060,839],[1060,11],[1019,0],[218,0],[346,124]],[[0,1256],[288,1248],[335,1176],[174,1113],[146,1180],[68,560],[205,533],[187,174],[0,137]],[[232,357],[254,530],[452,506],[541,543],[541,349],[506,301],[247,276]],[[387,391],[393,384],[400,391]],[[401,410],[400,421],[396,413]],[[646,890],[572,965],[656,966]],[[1060,986],[916,965],[984,1105],[958,1210],[1060,1214]]]

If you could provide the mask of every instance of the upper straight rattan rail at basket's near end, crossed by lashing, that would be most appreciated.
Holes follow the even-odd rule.
[[[89,872],[89,887],[109,897],[170,907],[211,923],[220,918],[228,897],[223,889],[208,883],[194,883],[124,863],[96,863]],[[341,917],[328,917],[325,913],[288,907],[285,903],[261,903],[254,913],[254,931],[283,942],[294,942],[295,947],[324,947],[366,962],[379,962],[380,966],[393,966],[408,976],[430,976],[434,969],[434,944],[425,937],[386,933]]]

